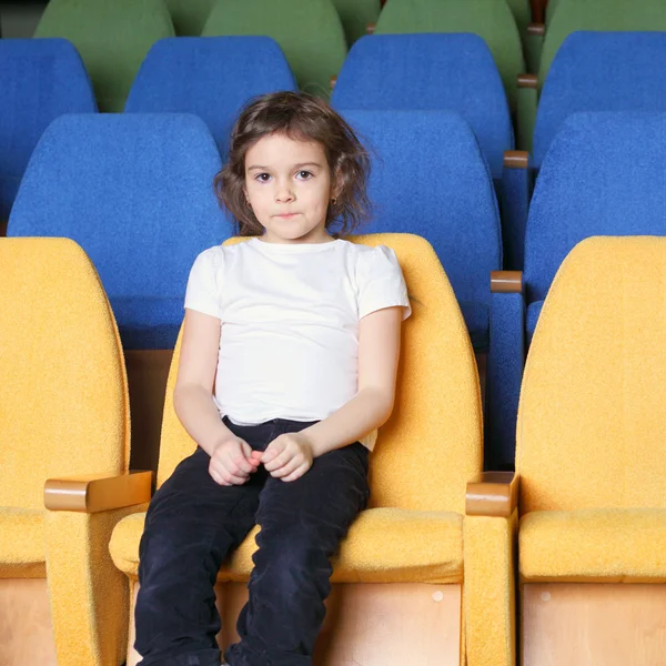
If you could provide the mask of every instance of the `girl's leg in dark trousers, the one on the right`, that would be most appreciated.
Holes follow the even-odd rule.
[[[359,443],[315,458],[296,481],[269,476],[241,642],[225,655],[231,666],[311,666],[331,591],[330,557],[369,494],[367,450]]]

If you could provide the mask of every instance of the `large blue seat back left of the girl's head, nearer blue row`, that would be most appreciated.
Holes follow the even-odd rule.
[[[203,121],[179,114],[64,115],[39,142],[10,236],[67,236],[94,262],[127,349],[170,349],[199,252],[231,233],[212,189],[221,168]]]

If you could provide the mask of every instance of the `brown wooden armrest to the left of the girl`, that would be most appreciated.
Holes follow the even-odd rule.
[[[151,482],[152,472],[49,478],[44,484],[44,506],[49,511],[97,513],[144,504],[150,502]]]

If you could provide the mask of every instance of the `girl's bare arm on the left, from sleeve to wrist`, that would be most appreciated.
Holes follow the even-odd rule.
[[[173,406],[190,436],[211,456],[220,442],[235,438],[213,402],[219,349],[220,320],[185,309]]]

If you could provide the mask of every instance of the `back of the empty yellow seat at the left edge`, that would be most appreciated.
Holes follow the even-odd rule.
[[[43,508],[48,477],[129,460],[120,337],[92,263],[65,239],[0,239],[0,506]]]

